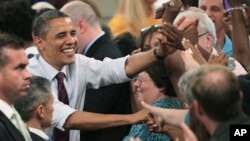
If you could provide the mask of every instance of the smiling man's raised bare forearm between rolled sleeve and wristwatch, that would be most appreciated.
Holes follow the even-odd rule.
[[[125,64],[125,71],[128,77],[133,77],[139,72],[147,69],[156,62],[153,50],[147,52],[136,53],[130,56]]]

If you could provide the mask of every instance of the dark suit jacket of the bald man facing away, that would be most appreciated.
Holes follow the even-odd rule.
[[[122,57],[122,53],[107,35],[103,35],[89,48],[86,56],[103,60],[105,57],[112,59]],[[105,86],[97,90],[88,89],[83,110],[104,114],[131,113],[129,83]],[[95,131],[81,131],[81,140],[120,141],[128,134],[130,127],[119,126]]]

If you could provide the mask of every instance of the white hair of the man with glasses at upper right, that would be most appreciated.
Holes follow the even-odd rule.
[[[175,18],[174,23],[176,21],[178,21],[182,16],[198,17],[198,19],[199,19],[198,27],[200,27],[204,32],[208,32],[212,35],[213,46],[214,47],[216,46],[217,36],[216,36],[215,25],[205,12],[203,12],[201,10],[194,10],[194,9],[189,9],[189,10],[183,11]]]

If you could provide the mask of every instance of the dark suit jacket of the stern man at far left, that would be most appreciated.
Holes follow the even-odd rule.
[[[0,141],[25,141],[21,132],[0,111]]]

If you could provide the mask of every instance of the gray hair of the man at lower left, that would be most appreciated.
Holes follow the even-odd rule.
[[[31,119],[36,107],[40,104],[46,105],[51,97],[50,81],[39,76],[32,76],[28,95],[18,99],[14,105],[26,122]]]

